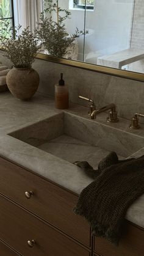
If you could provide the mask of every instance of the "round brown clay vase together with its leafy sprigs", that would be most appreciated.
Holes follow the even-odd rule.
[[[4,56],[13,63],[12,69],[6,77],[7,86],[10,92],[20,100],[29,100],[37,91],[40,78],[32,68],[32,62],[41,48],[35,33],[29,31],[29,27],[23,29],[21,26],[10,28],[12,35],[0,34],[1,49],[4,49]],[[6,28],[3,27],[6,31]]]

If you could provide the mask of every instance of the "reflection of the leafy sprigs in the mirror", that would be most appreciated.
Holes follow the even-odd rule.
[[[57,16],[56,21],[52,20],[52,14],[54,13]],[[75,38],[88,33],[88,31],[79,31],[76,28],[76,32],[73,35],[68,35],[63,21],[70,18],[70,15],[71,13],[68,10],[59,7],[59,0],[45,0],[45,11],[41,13],[37,35],[44,48],[52,56],[61,58],[70,53],[70,46]]]

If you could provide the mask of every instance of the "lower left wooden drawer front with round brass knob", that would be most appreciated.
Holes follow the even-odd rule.
[[[24,256],[90,256],[88,249],[0,196],[0,239]],[[29,247],[27,241],[35,241]]]

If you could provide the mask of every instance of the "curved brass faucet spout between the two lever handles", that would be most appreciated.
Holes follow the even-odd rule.
[[[91,119],[96,119],[96,115],[98,115],[101,112],[107,111],[109,109],[110,109],[110,112],[109,112],[109,117],[107,117],[107,122],[117,123],[118,122],[117,111],[115,111],[115,104],[113,103],[107,106],[104,106],[103,108],[95,109],[90,115],[90,117]]]

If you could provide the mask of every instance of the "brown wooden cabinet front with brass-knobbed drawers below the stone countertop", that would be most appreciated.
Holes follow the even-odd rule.
[[[76,194],[4,158],[0,164],[3,256],[143,255],[144,229],[126,221],[119,247],[94,238],[88,223],[72,212]]]

